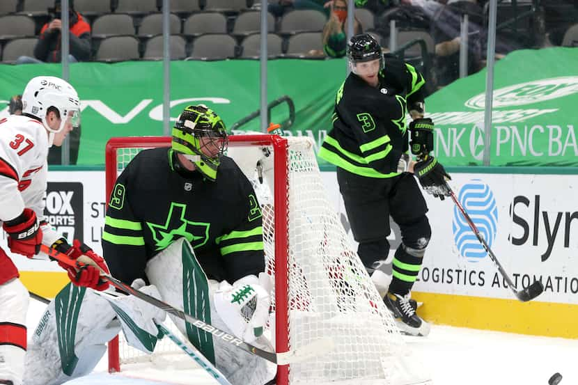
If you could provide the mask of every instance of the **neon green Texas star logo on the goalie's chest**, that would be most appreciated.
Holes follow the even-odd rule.
[[[203,246],[209,238],[210,223],[189,221],[185,218],[187,205],[171,203],[164,224],[146,222],[153,233],[157,250],[165,249],[180,237],[184,237],[193,247]]]

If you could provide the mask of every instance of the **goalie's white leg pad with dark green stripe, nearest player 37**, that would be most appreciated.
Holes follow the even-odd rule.
[[[105,299],[69,283],[50,302],[32,335],[24,385],[59,385],[92,372],[105,344],[119,331]]]

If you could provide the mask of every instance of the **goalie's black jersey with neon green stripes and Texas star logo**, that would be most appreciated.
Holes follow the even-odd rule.
[[[260,207],[233,159],[217,180],[179,171],[170,148],[139,152],[118,176],[102,234],[112,276],[130,284],[146,262],[180,237],[193,246],[208,278],[233,283],[265,269]]]

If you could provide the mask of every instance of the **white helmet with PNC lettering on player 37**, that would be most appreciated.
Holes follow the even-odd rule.
[[[62,122],[58,129],[50,128],[46,121],[46,113],[50,107],[54,107],[60,114]],[[68,120],[73,127],[78,127],[80,124],[78,93],[68,84],[68,81],[58,77],[33,77],[22,93],[22,113],[40,119],[51,136],[54,136],[56,132],[63,130]]]

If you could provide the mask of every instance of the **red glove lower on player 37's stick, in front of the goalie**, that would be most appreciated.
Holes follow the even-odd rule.
[[[72,259],[77,260],[77,266],[66,265],[58,262],[63,269],[68,272],[68,278],[77,286],[93,288],[95,290],[107,290],[109,282],[100,279],[102,272],[109,274],[109,268],[102,257],[98,256],[93,249],[81,243],[78,239],[72,242],[72,246],[66,242],[66,239],[60,238],[52,244],[52,247],[61,253],[65,253]],[[82,257],[82,258],[80,258]],[[81,260],[78,260],[78,259]]]

